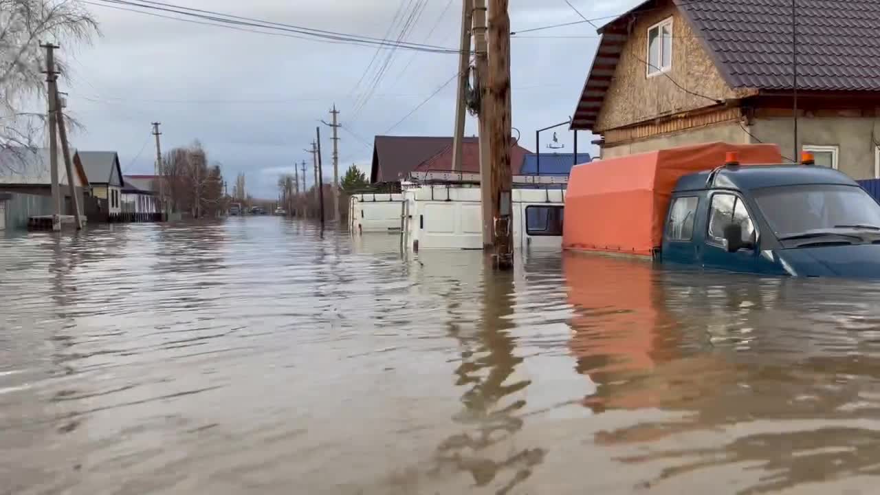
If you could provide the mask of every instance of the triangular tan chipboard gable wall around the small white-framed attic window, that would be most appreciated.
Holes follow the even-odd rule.
[[[715,105],[712,100],[683,91],[724,100],[736,96],[715,68],[701,41],[680,11],[671,4],[645,11],[638,16],[614,70],[611,86],[599,111],[595,129],[606,129],[642,122],[660,115],[671,115]],[[672,67],[669,76],[648,77],[648,28],[672,17]]]

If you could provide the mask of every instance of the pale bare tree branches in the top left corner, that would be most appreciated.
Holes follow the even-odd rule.
[[[0,0],[0,149],[33,147],[44,127],[45,115],[25,110],[45,94],[40,42],[88,42],[97,34],[78,0]]]

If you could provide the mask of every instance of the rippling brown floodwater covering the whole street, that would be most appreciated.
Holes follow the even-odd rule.
[[[878,299],[271,217],[7,236],[0,493],[872,493]]]

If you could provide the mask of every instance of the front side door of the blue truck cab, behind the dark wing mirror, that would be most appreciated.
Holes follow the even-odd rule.
[[[743,240],[752,242],[752,248],[728,253],[724,242],[724,227],[737,223],[743,228]],[[753,273],[758,266],[758,232],[752,222],[752,215],[742,198],[733,193],[715,193],[709,203],[709,219],[706,242],[702,248],[703,267],[712,270],[725,270]]]

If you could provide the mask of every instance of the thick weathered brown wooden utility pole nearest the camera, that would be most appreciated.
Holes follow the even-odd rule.
[[[512,177],[510,175],[510,0],[489,0],[488,122],[492,168],[495,267],[513,268]]]

